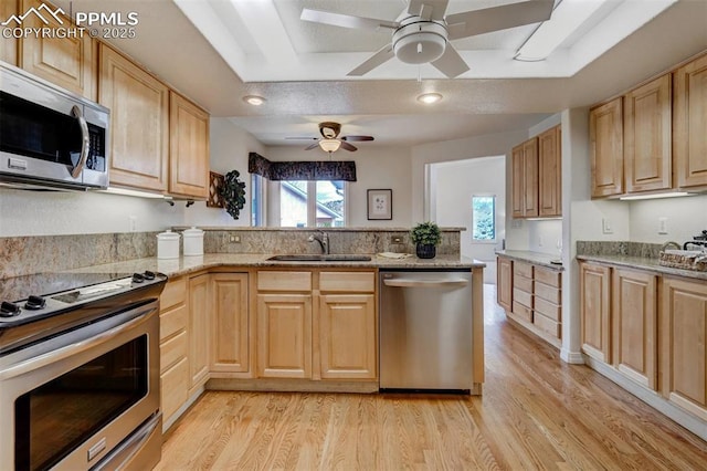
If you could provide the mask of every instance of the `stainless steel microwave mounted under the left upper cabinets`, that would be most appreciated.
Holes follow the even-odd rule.
[[[0,186],[108,187],[110,112],[0,62]]]

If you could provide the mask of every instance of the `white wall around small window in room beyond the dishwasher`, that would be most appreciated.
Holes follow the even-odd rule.
[[[496,283],[495,250],[506,233],[506,156],[454,160],[431,165],[431,219],[444,227],[463,227],[462,255],[488,262],[485,283]],[[472,197],[496,197],[496,241],[472,241]]]

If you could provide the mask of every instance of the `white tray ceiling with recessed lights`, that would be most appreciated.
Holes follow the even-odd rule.
[[[316,136],[317,123],[338,121],[342,135],[376,136],[357,144],[362,147],[527,129],[561,109],[625,91],[707,49],[707,0],[678,0],[650,20],[672,1],[609,0],[590,25],[541,63],[511,59],[535,27],[455,41],[472,65],[455,80],[394,59],[351,80],[346,73],[386,44],[389,33],[299,20],[303,7],[394,20],[404,8],[401,0],[54,2],[66,11],[71,6],[73,11],[137,12],[137,38],[112,42],[212,116],[231,117],[266,145],[302,146],[284,138]],[[451,0],[449,12],[509,2]],[[626,12],[640,21],[626,20]],[[636,31],[626,31],[626,24]],[[434,106],[415,101],[429,91],[444,100]],[[246,105],[242,97],[249,94],[267,101]]]

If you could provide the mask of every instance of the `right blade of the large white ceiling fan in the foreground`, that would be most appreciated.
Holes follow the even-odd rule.
[[[530,0],[446,17],[449,40],[468,38],[550,19],[555,0]]]

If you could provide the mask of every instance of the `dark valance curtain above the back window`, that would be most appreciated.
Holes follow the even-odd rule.
[[[356,163],[350,160],[270,161],[260,154],[250,153],[247,171],[268,180],[356,181]]]

